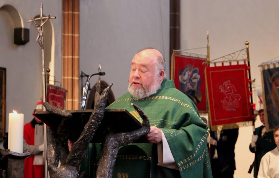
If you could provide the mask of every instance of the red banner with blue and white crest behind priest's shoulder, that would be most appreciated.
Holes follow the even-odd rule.
[[[171,79],[174,80],[175,88],[187,95],[200,112],[207,112],[205,61],[206,58],[173,53],[171,62]]]

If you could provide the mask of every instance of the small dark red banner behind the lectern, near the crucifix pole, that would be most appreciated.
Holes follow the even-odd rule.
[[[65,109],[67,90],[65,88],[47,84],[47,102],[59,109]]]

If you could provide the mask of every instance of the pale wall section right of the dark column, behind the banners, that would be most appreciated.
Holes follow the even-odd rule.
[[[206,46],[209,30],[210,59],[245,48],[249,41],[251,78],[261,88],[258,65],[279,56],[279,1],[181,0],[181,48]],[[206,53],[206,49],[201,52]],[[256,127],[260,126],[257,119]],[[254,154],[249,151],[252,127],[239,129],[234,177],[248,174]]]

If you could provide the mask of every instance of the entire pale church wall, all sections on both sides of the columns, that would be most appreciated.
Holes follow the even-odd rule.
[[[15,109],[24,114],[24,123],[31,120],[35,103],[42,95],[41,50],[35,41],[38,31],[34,24],[26,22],[40,14],[40,2],[44,15],[57,17],[51,20],[55,33],[54,72],[61,81],[62,1],[0,1],[0,8],[5,4],[15,7],[22,15],[24,27],[30,30],[27,44],[14,45],[13,23],[6,12],[0,11],[0,67],[7,69],[6,119]],[[211,59],[245,48],[244,42],[249,41],[251,77],[256,78],[257,89],[261,88],[258,65],[279,56],[279,2],[183,0],[180,3],[181,48],[205,47],[207,30]],[[80,71],[91,75],[98,71],[100,63],[106,72],[101,79],[114,83],[111,89],[116,98],[127,92],[131,60],[145,47],[162,52],[169,78],[169,1],[80,1]],[[205,54],[206,49],[195,52]],[[91,78],[91,86],[97,78]],[[260,126],[258,120],[256,127]],[[248,148],[251,135],[252,127],[239,129],[234,177],[252,177],[247,173],[254,158]]]

